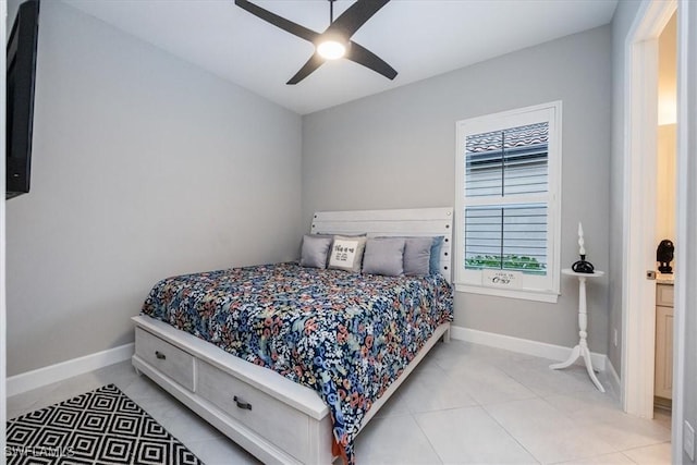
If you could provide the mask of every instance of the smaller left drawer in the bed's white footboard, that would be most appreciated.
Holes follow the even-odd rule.
[[[135,329],[135,353],[162,374],[194,391],[194,357],[167,341]]]

